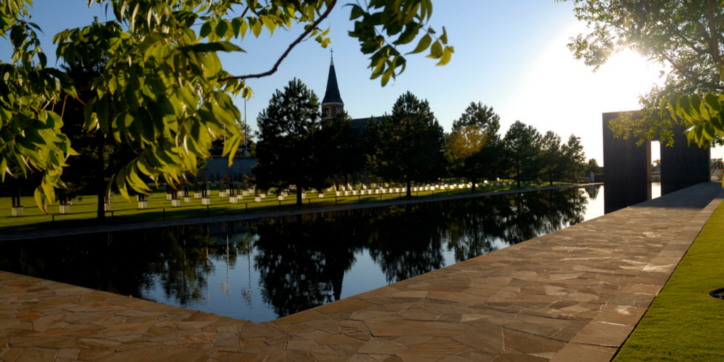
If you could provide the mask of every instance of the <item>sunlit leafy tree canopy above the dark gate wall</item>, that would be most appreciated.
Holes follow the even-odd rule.
[[[618,137],[673,144],[673,129],[686,127],[689,142],[723,143],[724,3],[716,0],[556,0],[575,4],[591,32],[569,44],[576,58],[597,69],[613,54],[633,49],[671,69],[665,85],[641,98],[644,109],[624,114]]]

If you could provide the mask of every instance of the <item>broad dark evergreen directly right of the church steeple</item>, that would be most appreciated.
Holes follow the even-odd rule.
[[[437,180],[445,170],[443,130],[427,101],[411,92],[397,98],[392,114],[379,125],[379,143],[373,172],[403,181],[411,196],[412,182]]]

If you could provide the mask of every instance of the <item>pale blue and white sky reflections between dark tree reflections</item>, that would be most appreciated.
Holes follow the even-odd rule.
[[[657,195],[657,190],[658,195],[660,195],[660,185],[658,188],[654,186],[652,194]],[[595,199],[589,197],[589,193],[594,193],[594,190],[582,193],[585,198],[585,211],[581,215],[583,221],[604,214],[604,190],[599,187],[597,191]],[[232,235],[230,243],[249,236],[247,234]],[[251,240],[258,240],[258,235],[252,235]],[[449,242],[450,238],[448,236],[444,237],[440,243],[442,266],[450,266],[456,262],[454,248],[448,245]],[[216,243],[217,245],[221,244],[223,247],[225,243],[224,237],[216,237]],[[494,238],[491,244],[494,249],[502,249],[509,245],[500,237]],[[389,284],[387,275],[382,270],[379,260],[375,260],[371,256],[371,251],[368,248],[360,248],[353,255],[353,262],[350,268],[344,272],[344,278],[342,279],[341,298],[348,298]],[[204,286],[205,288],[198,291],[201,297],[198,299],[192,298],[182,306],[250,321],[276,319],[277,314],[274,308],[263,297],[265,285],[260,272],[257,270],[258,265],[255,261],[257,256],[260,256],[260,251],[251,248],[250,253],[238,255],[233,265],[227,264],[226,256],[222,253],[217,253],[213,257],[210,256],[211,268],[205,275],[208,283]],[[163,288],[159,287],[162,283],[158,276],[153,276],[153,281],[151,287],[144,289],[143,298],[156,300],[159,303],[179,305],[174,296],[167,295]],[[292,282],[292,284],[294,283]]]

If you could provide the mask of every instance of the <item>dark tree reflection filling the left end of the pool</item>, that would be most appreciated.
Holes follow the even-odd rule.
[[[214,272],[207,252],[226,256],[226,246],[203,227],[0,242],[0,248],[2,270],[146,299],[158,282],[166,298],[182,306],[203,298],[206,276]],[[233,258],[237,248],[230,248]]]

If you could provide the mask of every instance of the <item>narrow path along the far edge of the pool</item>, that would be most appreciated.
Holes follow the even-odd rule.
[[[261,219],[265,217],[282,217],[282,216],[295,216],[301,214],[314,214],[317,212],[327,211],[342,211],[342,210],[356,210],[356,209],[369,209],[374,207],[387,207],[395,205],[405,205],[408,203],[429,203],[443,200],[458,200],[461,198],[481,198],[491,195],[507,195],[510,193],[529,193],[533,191],[543,190],[560,190],[563,188],[584,188],[594,185],[603,185],[603,183],[589,183],[589,184],[576,184],[576,185],[565,185],[565,186],[550,186],[547,188],[531,188],[523,190],[505,190],[497,191],[492,193],[461,193],[460,195],[447,195],[447,196],[425,196],[424,198],[412,198],[404,200],[392,200],[392,201],[379,201],[374,203],[361,203],[358,205],[340,205],[340,206],[326,206],[313,209],[294,209],[286,211],[269,211],[269,212],[257,212],[252,214],[230,214],[224,216],[210,216],[210,217],[196,217],[190,219],[174,219],[154,222],[138,222],[135,224],[118,224],[118,225],[97,225],[89,227],[72,227],[67,229],[49,229],[49,230],[33,230],[33,231],[21,231],[21,232],[6,232],[0,235],[0,241],[9,240],[29,240],[39,239],[41,237],[58,237],[68,235],[86,235],[95,234],[98,232],[118,232],[125,230],[143,230],[153,229],[156,227],[174,227],[180,225],[193,225],[193,224],[204,224],[207,222],[234,222],[240,220],[252,220]],[[442,193],[441,193],[442,194]],[[345,198],[355,198],[356,196],[345,196]],[[93,222],[92,220],[88,220]]]

